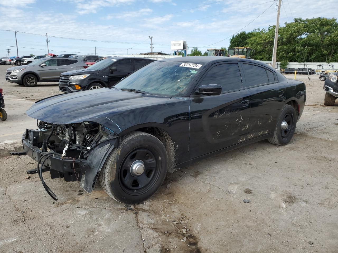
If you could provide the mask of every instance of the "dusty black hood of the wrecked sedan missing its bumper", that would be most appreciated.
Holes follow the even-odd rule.
[[[53,124],[94,121],[114,122],[114,114],[158,105],[170,97],[146,95],[117,89],[101,88],[60,94],[37,101],[28,116]],[[104,124],[103,124],[104,125]]]

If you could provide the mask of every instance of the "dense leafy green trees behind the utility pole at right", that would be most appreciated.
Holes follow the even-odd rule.
[[[230,39],[229,48],[250,47],[251,57],[270,61],[275,26],[240,32]],[[338,23],[332,18],[295,18],[279,28],[276,60],[287,62],[338,61]]]

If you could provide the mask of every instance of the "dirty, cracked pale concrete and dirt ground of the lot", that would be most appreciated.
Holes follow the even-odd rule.
[[[7,83],[4,70],[9,95],[59,93],[56,84]],[[182,168],[143,204],[46,172],[53,201],[37,174],[26,178],[32,159],[0,158],[0,252],[338,252],[338,104],[323,106],[318,77],[297,78],[307,103],[291,143],[261,141]]]

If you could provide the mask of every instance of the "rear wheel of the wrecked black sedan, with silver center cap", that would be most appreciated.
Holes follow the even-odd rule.
[[[270,137],[268,141],[279,146],[288,144],[295,132],[297,117],[297,113],[291,105],[284,105],[277,120],[273,137]]]

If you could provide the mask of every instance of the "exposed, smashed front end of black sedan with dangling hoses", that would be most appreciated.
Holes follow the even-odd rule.
[[[27,173],[38,173],[47,193],[55,200],[57,197],[43,180],[44,171],[49,171],[51,178],[79,181],[80,187],[91,193],[107,157],[118,146],[119,136],[96,122],[40,121],[38,127],[27,129],[22,136],[26,154],[38,162],[37,168]]]

